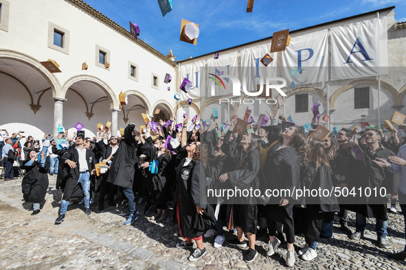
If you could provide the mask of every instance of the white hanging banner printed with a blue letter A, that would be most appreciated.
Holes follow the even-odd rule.
[[[333,27],[331,79],[387,74],[387,19]]]

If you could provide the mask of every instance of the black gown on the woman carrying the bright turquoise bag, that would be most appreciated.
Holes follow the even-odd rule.
[[[168,163],[170,160],[169,154],[161,154],[161,156],[157,155],[158,149],[150,145],[150,143],[146,142],[144,145],[140,147],[142,154],[145,154],[150,159],[150,164],[153,160],[157,160],[158,164],[158,173],[150,173],[150,177],[148,177],[148,191],[150,194],[153,195],[155,199],[155,203],[158,205],[166,203],[166,191],[168,188],[167,182],[169,179],[169,170],[168,170]]]

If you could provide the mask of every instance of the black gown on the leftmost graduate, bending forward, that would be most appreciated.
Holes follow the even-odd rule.
[[[31,166],[26,166],[25,164],[29,161],[25,160],[21,164],[21,169],[25,169],[23,182],[21,182],[23,197],[26,202],[43,203],[49,184],[47,173],[49,160],[45,161],[44,167],[41,166],[41,162],[37,161]]]

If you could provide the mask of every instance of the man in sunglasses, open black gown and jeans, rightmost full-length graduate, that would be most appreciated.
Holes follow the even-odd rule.
[[[357,213],[355,221],[355,232],[351,234],[350,238],[353,240],[359,240],[363,237],[365,230],[366,218],[376,219],[376,235],[378,236],[379,246],[388,248],[389,245],[386,241],[387,236],[387,211],[385,197],[374,195],[371,193],[367,197],[364,192],[367,190],[373,191],[376,188],[377,191],[381,191],[381,188],[392,191],[393,173],[388,169],[383,169],[376,164],[374,160],[389,160],[390,156],[395,156],[394,152],[383,147],[379,140],[381,140],[381,133],[378,130],[367,128],[365,130],[365,147],[363,151],[363,157],[352,159],[354,164],[352,170],[348,172],[349,182],[351,186],[348,186],[348,190],[352,188],[363,193],[361,196],[351,196],[352,203],[348,205],[349,210],[353,210]]]

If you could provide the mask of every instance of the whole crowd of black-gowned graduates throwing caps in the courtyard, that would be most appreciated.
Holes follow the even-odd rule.
[[[95,138],[78,132],[65,147],[52,145],[59,160],[56,188],[63,191],[55,223],[64,221],[69,201],[76,198],[83,197],[85,213],[91,214],[90,205],[99,193],[99,211],[104,211],[105,199],[116,207],[115,199],[121,195],[119,206],[128,206],[125,225],[148,214],[155,204],[156,222],[172,220],[179,225],[185,241],[177,247],[193,248],[196,243],[191,261],[206,253],[203,236],[217,235],[214,247],[227,241],[247,249],[244,259],[252,262],[258,256],[256,237],[267,235],[267,256],[286,242],[286,265],[292,266],[297,233],[306,239],[298,255],[313,260],[319,239],[332,237],[335,214],[341,230],[353,240],[363,236],[366,218],[374,218],[377,245],[389,247],[388,200],[394,205],[398,199],[403,214],[406,211],[405,138],[398,138],[395,128],[386,136],[372,127],[342,128],[317,138],[322,125],[316,116],[306,134],[294,123],[285,125],[288,119],[280,116],[284,102],[277,100],[266,124],[248,125],[245,130],[240,130],[242,120],[236,115],[227,124],[218,123],[213,115],[203,123],[184,114],[178,125],[177,119],[171,123],[146,119],[141,130],[131,123],[119,138],[100,128]],[[398,129],[406,132],[403,124]],[[64,136],[59,134],[58,139]],[[35,204],[34,214],[45,201],[49,160],[35,150],[28,157],[22,164],[23,194]],[[332,193],[297,193],[306,188]],[[261,195],[226,197],[208,192],[236,189],[259,190]],[[285,193],[271,196],[266,190]],[[348,211],[356,212],[354,231],[348,226]],[[224,227],[235,230],[237,237],[226,239]],[[404,259],[406,250],[391,256]]]

